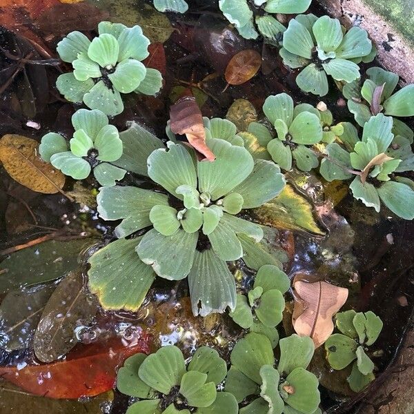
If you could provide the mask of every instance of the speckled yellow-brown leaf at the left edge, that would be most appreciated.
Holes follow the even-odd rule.
[[[12,179],[43,194],[55,194],[65,184],[65,176],[38,154],[39,143],[22,135],[8,134],[0,139],[0,161]]]

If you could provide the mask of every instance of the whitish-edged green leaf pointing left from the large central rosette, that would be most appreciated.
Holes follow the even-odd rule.
[[[104,187],[97,195],[98,213],[104,220],[119,220],[115,235],[120,239],[151,225],[150,210],[168,206],[168,197],[137,187]]]

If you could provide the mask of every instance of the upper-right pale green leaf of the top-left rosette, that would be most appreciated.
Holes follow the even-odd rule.
[[[119,43],[119,55],[118,61],[124,61],[125,59],[136,59],[142,61],[148,57],[148,46],[150,46],[150,40],[142,33],[142,29],[139,26],[133,28],[126,28],[122,30],[118,37]]]

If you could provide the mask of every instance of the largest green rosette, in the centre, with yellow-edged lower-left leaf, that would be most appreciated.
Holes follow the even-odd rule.
[[[159,190],[101,188],[100,217],[122,221],[115,228],[119,240],[89,260],[90,289],[105,308],[136,310],[155,275],[188,277],[195,315],[234,310],[235,278],[227,262],[244,259],[255,270],[280,265],[262,244],[264,228],[237,217],[281,193],[286,181],[279,167],[223,139],[206,140],[213,162],[196,161],[193,150],[172,141],[165,148],[154,136],[139,135],[136,142],[134,162]],[[125,239],[138,231],[138,238]]]

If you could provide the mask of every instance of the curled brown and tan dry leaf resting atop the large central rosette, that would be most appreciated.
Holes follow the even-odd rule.
[[[208,161],[215,160],[215,155],[206,146],[203,115],[201,115],[195,97],[191,95],[181,97],[177,103],[171,106],[170,119],[170,128],[174,134],[185,134],[190,146]]]

